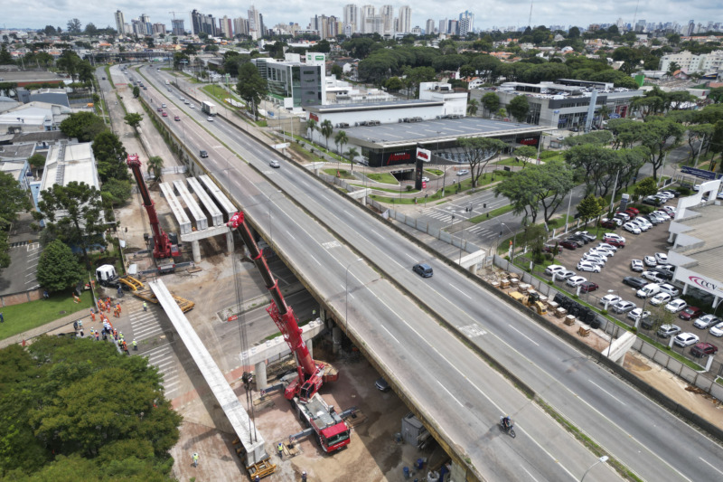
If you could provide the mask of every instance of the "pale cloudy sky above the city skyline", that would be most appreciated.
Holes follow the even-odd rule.
[[[534,1],[534,0],[533,0]],[[103,5],[98,5],[98,3]],[[190,14],[197,9],[202,14],[212,14],[216,18],[228,15],[230,18],[247,17],[251,3],[230,5],[228,1],[207,0],[205,2],[189,2],[185,0],[155,0],[141,2],[130,0],[122,3],[91,2],[88,0],[3,0],[0,8],[0,26],[3,28],[42,28],[45,25],[66,28],[68,20],[78,18],[80,23],[93,23],[97,27],[112,26],[115,28],[113,14],[120,10],[125,15],[126,23],[131,19],[147,14],[151,23],[162,23],[171,29],[171,19],[176,11],[177,18],[185,20],[186,29],[190,28]],[[343,5],[349,2],[334,0],[284,0],[283,2],[258,2],[257,8],[264,15],[264,24],[273,27],[282,23],[297,23],[305,28],[309,18],[315,14],[335,15],[343,20]],[[273,8],[269,5],[283,5]],[[267,5],[267,6],[263,6]],[[380,10],[382,3],[357,3],[374,5]],[[387,3],[394,6],[397,16],[399,6],[412,5],[412,26],[425,28],[427,19],[434,19],[437,26],[442,18],[458,18],[461,12],[469,10],[474,14],[474,28],[507,27],[526,25],[530,16],[530,0],[504,0],[498,2],[474,2],[459,0],[415,0],[405,3]],[[444,5],[444,6],[442,6]],[[723,2],[721,0],[639,0],[638,12],[635,15],[635,0],[596,0],[579,2],[571,0],[535,1],[532,6],[533,25],[577,25],[587,27],[589,24],[615,24],[618,18],[624,23],[633,23],[634,18],[647,22],[678,22],[687,24],[694,20],[696,24],[707,24],[709,21],[723,20]],[[685,15],[685,16],[681,16]]]

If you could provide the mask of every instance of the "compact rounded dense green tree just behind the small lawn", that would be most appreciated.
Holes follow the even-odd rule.
[[[75,287],[85,277],[85,269],[67,244],[60,240],[48,244],[38,261],[37,279],[48,291]]]

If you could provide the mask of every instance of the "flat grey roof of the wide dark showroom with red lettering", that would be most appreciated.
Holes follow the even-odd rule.
[[[347,136],[359,140],[360,145],[377,147],[414,146],[456,140],[459,137],[534,135],[545,130],[549,131],[549,128],[489,118],[442,118],[423,122],[403,122],[344,129]]]

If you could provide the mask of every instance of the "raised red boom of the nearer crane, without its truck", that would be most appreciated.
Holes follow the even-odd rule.
[[[250,258],[256,264],[264,284],[271,293],[272,301],[267,308],[268,314],[274,320],[281,335],[284,336],[286,345],[296,358],[298,378],[286,387],[286,399],[291,400],[298,396],[302,402],[306,402],[318,392],[323,382],[334,380],[336,375],[327,373],[329,367],[326,364],[315,362],[309,353],[304,338],[301,336],[302,331],[299,328],[296,315],[294,315],[294,310],[286,305],[286,300],[278,288],[278,281],[274,279],[271,269],[268,268],[266,258],[258,249],[258,245],[249,230],[249,225],[244,220],[243,213],[234,213],[226,225],[239,231],[243,243],[249,249]]]

